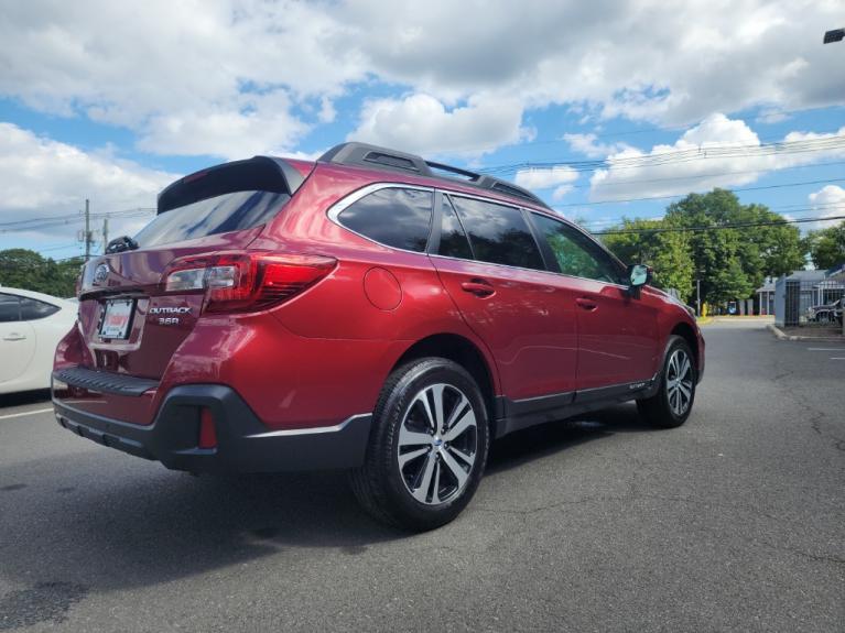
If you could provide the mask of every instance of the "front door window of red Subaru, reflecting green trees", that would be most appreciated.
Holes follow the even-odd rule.
[[[619,266],[589,238],[564,222],[539,214],[532,216],[563,274],[619,283]]]

